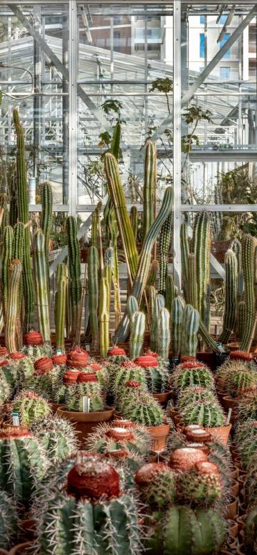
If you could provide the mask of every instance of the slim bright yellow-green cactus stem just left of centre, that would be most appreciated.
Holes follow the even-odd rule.
[[[100,355],[106,357],[109,348],[109,286],[106,278],[100,279],[99,295],[99,339]]]

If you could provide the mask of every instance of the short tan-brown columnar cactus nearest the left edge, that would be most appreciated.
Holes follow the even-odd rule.
[[[19,318],[19,282],[21,280],[21,262],[12,260],[8,268],[8,302],[6,306],[6,347],[8,352],[16,352],[15,341],[17,318]]]

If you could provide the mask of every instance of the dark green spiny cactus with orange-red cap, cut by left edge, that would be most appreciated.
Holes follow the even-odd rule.
[[[16,456],[14,456],[16,454]],[[1,429],[0,488],[28,509],[35,488],[48,470],[48,461],[39,441],[23,426]]]

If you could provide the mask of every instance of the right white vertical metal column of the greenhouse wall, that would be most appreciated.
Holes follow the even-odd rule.
[[[173,145],[173,182],[174,182],[174,280],[181,290],[181,3],[174,1],[173,10],[173,114],[174,114],[174,145]]]

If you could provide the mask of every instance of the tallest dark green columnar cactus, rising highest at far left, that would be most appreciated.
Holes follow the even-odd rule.
[[[19,121],[19,112],[13,110],[13,121],[17,134],[17,205],[19,221],[28,223],[28,185],[26,178],[24,132]],[[29,332],[33,327],[35,294],[32,277],[32,264],[30,259],[30,229],[27,226],[24,233],[24,260],[23,260],[23,286],[24,286],[24,331]]]

